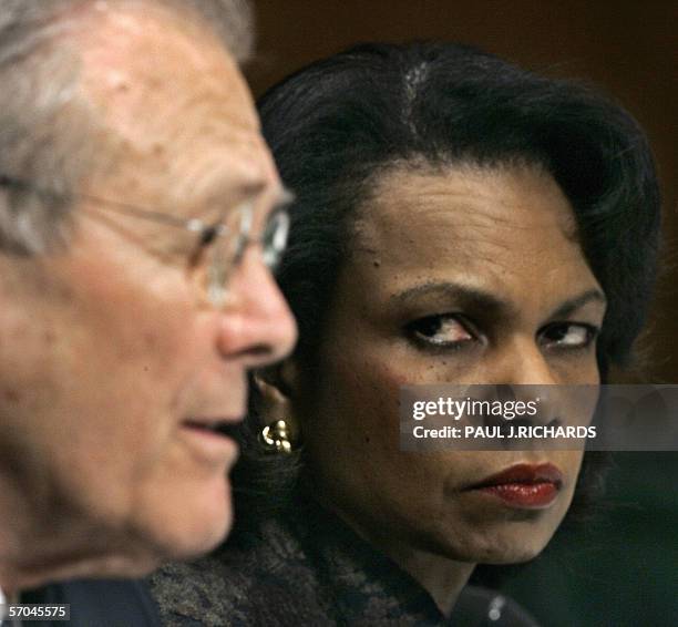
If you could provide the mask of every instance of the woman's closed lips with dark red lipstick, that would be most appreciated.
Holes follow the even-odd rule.
[[[553,464],[516,464],[469,487],[527,510],[549,507],[563,486],[563,473]]]

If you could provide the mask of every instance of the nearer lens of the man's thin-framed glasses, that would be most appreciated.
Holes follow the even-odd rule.
[[[215,305],[224,302],[226,284],[230,270],[238,265],[249,240],[251,229],[251,205],[249,203],[229,212],[217,227],[214,243],[207,253],[209,300]]]

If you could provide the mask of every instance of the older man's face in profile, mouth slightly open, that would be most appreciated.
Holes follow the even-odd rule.
[[[37,569],[125,574],[223,538],[237,449],[205,426],[242,419],[246,369],[282,357],[296,331],[259,246],[216,309],[194,238],[92,199],[213,222],[249,198],[260,225],[280,184],[233,59],[148,7],[79,37],[113,157],[81,189],[66,251],[0,257],[0,467],[28,503]]]

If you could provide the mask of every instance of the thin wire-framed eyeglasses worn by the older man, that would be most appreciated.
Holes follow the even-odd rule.
[[[59,198],[54,192],[44,191],[30,182],[0,174],[0,186],[13,187],[35,193],[44,198]],[[170,214],[145,209],[117,201],[110,201],[79,194],[75,197],[90,201],[99,208],[130,217],[164,224],[195,234],[197,245],[193,257],[199,255],[207,268],[207,298],[215,307],[222,307],[227,296],[230,274],[243,260],[245,250],[251,244],[261,246],[261,257],[266,267],[275,270],[287,246],[289,215],[285,206],[278,206],[266,218],[261,234],[253,237],[254,203],[245,202],[229,210],[224,219],[208,224],[198,218],[184,219]]]

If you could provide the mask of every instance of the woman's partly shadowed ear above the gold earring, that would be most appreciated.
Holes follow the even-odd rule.
[[[295,411],[298,390],[296,364],[286,359],[282,363],[257,371],[254,381],[259,392],[255,399],[255,409],[260,417],[261,426],[284,420],[292,438],[297,439],[300,424]]]

